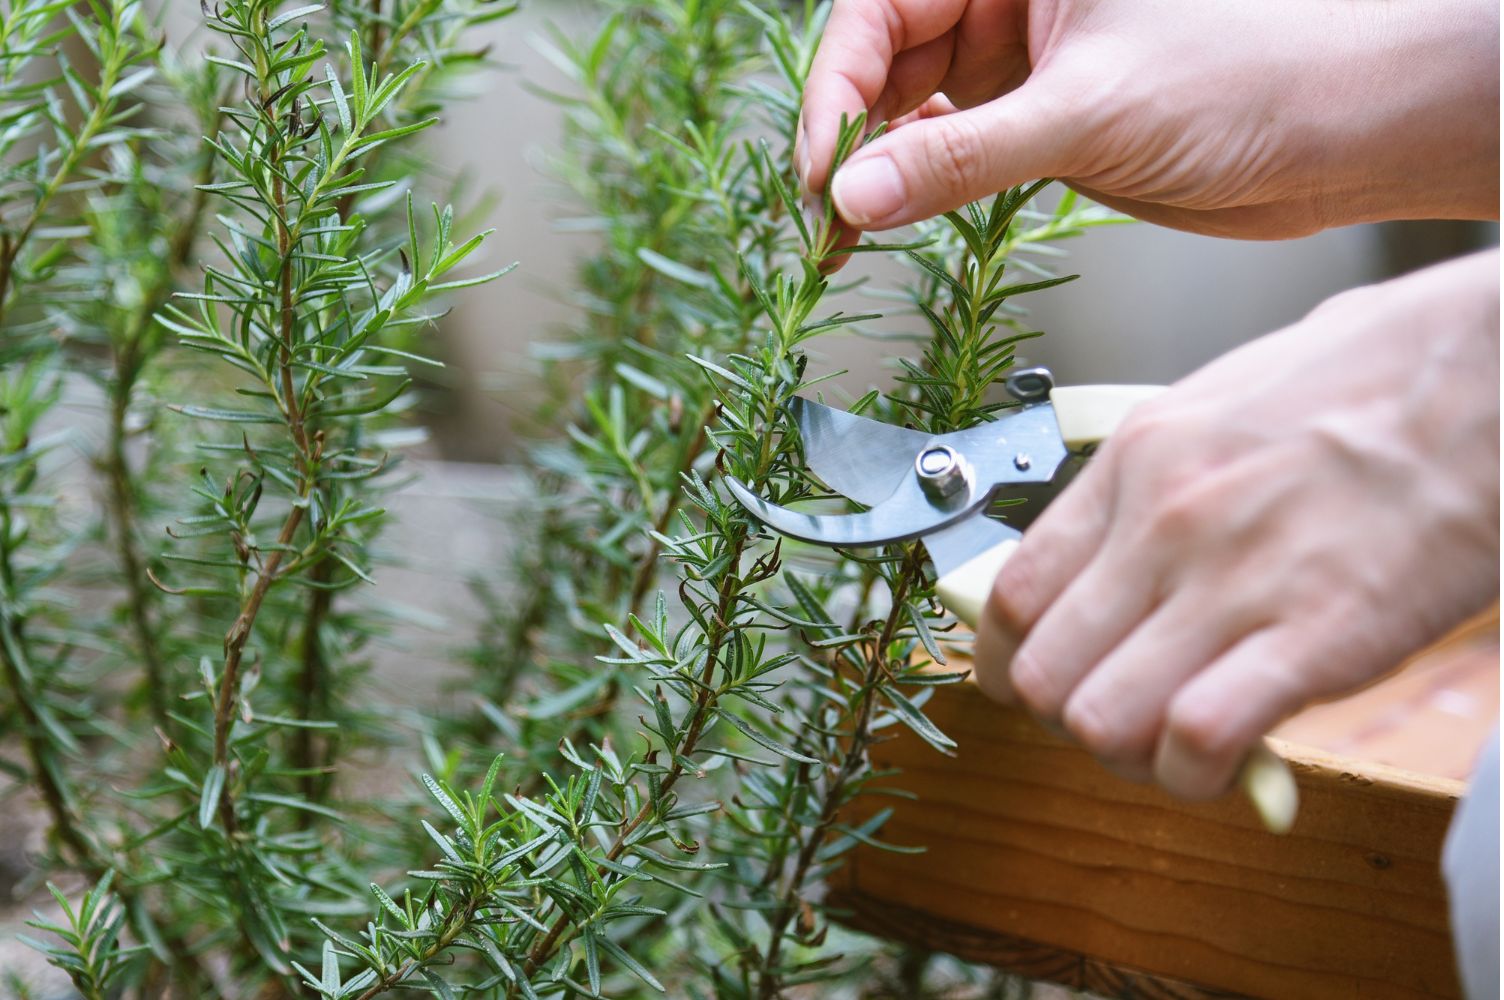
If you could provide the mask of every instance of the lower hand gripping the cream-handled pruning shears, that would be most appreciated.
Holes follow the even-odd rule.
[[[1208,797],[1496,598],[1498,266],[1339,295],[1136,409],[999,574],[982,690]]]

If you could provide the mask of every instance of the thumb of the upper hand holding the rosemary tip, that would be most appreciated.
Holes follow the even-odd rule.
[[[988,104],[901,125],[842,164],[830,186],[856,229],[893,229],[1038,177],[1069,173],[1081,128],[1039,81]]]

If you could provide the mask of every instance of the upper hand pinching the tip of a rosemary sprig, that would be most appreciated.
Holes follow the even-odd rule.
[[[1036,177],[1139,218],[1272,239],[1498,218],[1498,6],[1481,0],[836,0],[796,164],[892,120],[832,183],[853,230]]]

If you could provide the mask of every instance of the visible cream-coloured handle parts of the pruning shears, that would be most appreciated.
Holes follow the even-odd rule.
[[[1134,406],[1163,391],[1158,385],[1074,385],[1053,389],[1050,402],[1060,436],[1074,451],[1108,438]],[[1017,547],[1018,541],[1009,540],[963,562],[940,577],[935,595],[952,615],[975,629],[993,591],[993,580]],[[1299,791],[1289,765],[1268,743],[1260,741],[1244,761],[1238,783],[1266,830],[1289,833],[1299,808]]]

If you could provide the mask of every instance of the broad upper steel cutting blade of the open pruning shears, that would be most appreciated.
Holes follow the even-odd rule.
[[[929,435],[893,427],[871,417],[794,397],[790,403],[805,462],[820,480],[845,498],[872,507],[886,499],[914,469],[914,456]]]

